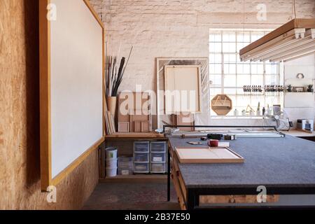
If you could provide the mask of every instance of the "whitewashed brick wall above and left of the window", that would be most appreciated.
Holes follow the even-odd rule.
[[[90,0],[106,26],[109,54],[134,52],[122,90],[156,90],[157,57],[208,57],[209,28],[276,28],[293,15],[292,0]],[[258,3],[267,20],[256,18]],[[314,18],[314,0],[296,1],[297,18]],[[245,9],[245,13],[244,12]]]

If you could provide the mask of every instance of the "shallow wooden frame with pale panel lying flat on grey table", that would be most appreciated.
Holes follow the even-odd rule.
[[[240,163],[244,158],[230,148],[176,148],[181,163]]]

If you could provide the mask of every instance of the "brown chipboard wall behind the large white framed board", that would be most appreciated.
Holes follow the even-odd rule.
[[[98,182],[97,152],[41,193],[38,0],[0,1],[0,209],[80,209]]]

